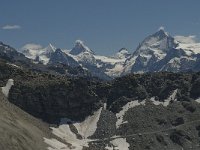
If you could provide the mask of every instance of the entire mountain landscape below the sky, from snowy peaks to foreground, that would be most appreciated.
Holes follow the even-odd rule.
[[[113,56],[0,42],[0,150],[199,150],[199,71],[163,29]]]

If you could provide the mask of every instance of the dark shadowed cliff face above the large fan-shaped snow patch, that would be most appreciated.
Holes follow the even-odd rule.
[[[36,80],[16,82],[9,100],[47,122],[54,123],[64,117],[81,120],[99,108],[99,98],[92,93],[84,79]]]

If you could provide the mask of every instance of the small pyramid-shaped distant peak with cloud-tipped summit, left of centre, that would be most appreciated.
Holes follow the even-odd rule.
[[[80,53],[88,52],[91,54],[94,54],[94,52],[89,49],[83,41],[76,40],[74,48],[70,51],[70,54],[72,55],[79,55]]]

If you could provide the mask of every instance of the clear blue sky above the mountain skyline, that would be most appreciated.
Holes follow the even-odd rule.
[[[20,48],[80,39],[98,54],[134,51],[164,26],[171,35],[200,35],[199,0],[1,0],[0,41]]]

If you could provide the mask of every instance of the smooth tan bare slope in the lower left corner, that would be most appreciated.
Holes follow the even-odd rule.
[[[0,149],[44,150],[44,137],[54,137],[48,125],[9,103],[0,91]]]

